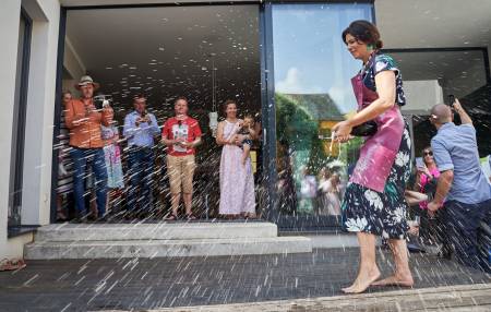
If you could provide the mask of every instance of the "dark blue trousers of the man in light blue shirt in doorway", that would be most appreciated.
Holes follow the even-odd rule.
[[[128,157],[130,189],[128,191],[128,209],[148,212],[152,207],[152,176],[154,172],[154,151],[152,147],[131,146]],[[139,195],[140,188],[140,195]]]

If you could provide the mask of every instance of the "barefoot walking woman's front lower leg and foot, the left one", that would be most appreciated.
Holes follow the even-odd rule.
[[[360,244],[360,268],[354,284],[350,287],[343,288],[346,293],[363,292],[380,277],[380,271],[375,262],[375,236],[358,232],[357,237]]]

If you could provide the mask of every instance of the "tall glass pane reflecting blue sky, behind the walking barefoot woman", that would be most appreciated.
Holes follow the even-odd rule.
[[[371,20],[371,4],[277,4],[273,47],[280,213],[339,215],[347,169],[360,140],[332,144],[331,129],[356,110],[359,64],[342,32]]]

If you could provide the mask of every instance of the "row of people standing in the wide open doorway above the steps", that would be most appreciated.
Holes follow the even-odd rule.
[[[91,76],[82,76],[75,85],[81,98],[63,94],[64,124],[69,130],[69,154],[72,160],[74,221],[86,221],[88,189],[95,191],[95,206],[99,221],[107,221],[107,207],[111,194],[124,188],[121,164],[120,136],[115,125],[113,111],[107,100],[100,107],[94,100],[99,84]],[[128,143],[128,192],[125,218],[145,218],[153,211],[152,192],[155,173],[155,142],[160,136],[166,146],[167,176],[169,178],[171,211],[167,220],[177,220],[181,197],[185,218],[193,214],[193,176],[196,168],[196,146],[203,133],[197,120],[188,115],[185,97],[175,101],[175,116],[158,125],[156,117],[146,109],[146,97],[133,98],[134,110],[124,118],[122,136]],[[250,157],[252,141],[258,139],[253,119],[237,116],[237,103],[225,104],[226,119],[218,124],[216,142],[224,146],[220,159],[219,214],[227,218],[255,217],[254,179]],[[67,157],[64,157],[67,158]],[[62,159],[60,159],[62,160]],[[62,164],[62,163],[60,163]],[[63,166],[60,166],[60,168]],[[64,176],[65,172],[63,173]],[[91,188],[88,188],[91,187]]]

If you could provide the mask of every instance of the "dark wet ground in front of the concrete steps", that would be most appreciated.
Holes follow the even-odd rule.
[[[0,273],[0,311],[143,310],[340,296],[356,276],[357,249],[180,259],[29,261]],[[384,275],[387,252],[379,252]],[[416,289],[491,283],[434,255],[411,254]],[[397,290],[371,288],[368,292]]]

